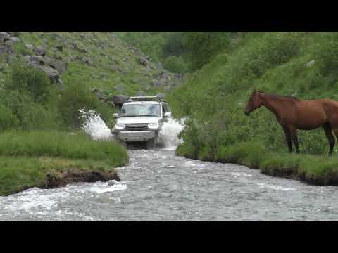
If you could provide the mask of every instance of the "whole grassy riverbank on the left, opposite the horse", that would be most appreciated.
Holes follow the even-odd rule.
[[[92,141],[82,133],[8,131],[0,135],[0,195],[48,186],[48,178],[70,180],[65,173],[80,177],[89,172],[108,173],[113,179],[117,176],[114,167],[127,160],[125,148]]]

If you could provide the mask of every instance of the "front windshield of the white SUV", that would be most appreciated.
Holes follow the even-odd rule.
[[[161,117],[161,106],[159,104],[131,104],[123,105],[120,117]]]

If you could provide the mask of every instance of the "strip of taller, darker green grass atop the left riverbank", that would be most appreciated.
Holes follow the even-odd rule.
[[[63,157],[105,161],[111,166],[127,162],[127,151],[111,141],[92,141],[89,136],[60,131],[8,131],[0,134],[0,155]]]

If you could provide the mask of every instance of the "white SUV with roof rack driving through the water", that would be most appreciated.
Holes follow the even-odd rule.
[[[163,122],[171,117],[171,110],[156,96],[130,97],[114,117],[117,122],[111,132],[119,141],[146,142],[147,148],[152,148],[158,142]]]

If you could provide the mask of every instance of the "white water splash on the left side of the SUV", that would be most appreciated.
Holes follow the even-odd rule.
[[[94,140],[113,140],[111,129],[101,119],[99,113],[94,110],[79,110],[84,124],[82,129]]]

